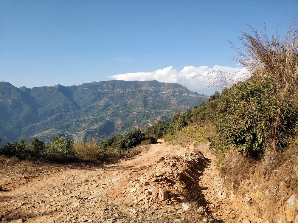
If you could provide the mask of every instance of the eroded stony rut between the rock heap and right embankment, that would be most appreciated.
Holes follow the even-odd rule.
[[[215,153],[207,145],[202,145],[200,151],[207,161],[207,166],[202,172],[199,185],[206,201],[206,204],[202,205],[209,213],[221,222],[268,223],[259,208],[246,199],[247,195],[237,194],[232,188],[224,187]]]

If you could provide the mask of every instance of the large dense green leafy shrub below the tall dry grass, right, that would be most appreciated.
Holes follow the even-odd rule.
[[[262,156],[272,137],[279,150],[288,145],[298,109],[290,99],[279,106],[272,83],[270,79],[260,84],[245,82],[223,91],[215,126],[225,148],[232,145],[240,152]]]

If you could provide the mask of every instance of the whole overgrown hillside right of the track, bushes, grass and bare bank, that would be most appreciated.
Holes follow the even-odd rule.
[[[211,84],[223,87],[220,95],[184,114],[176,113],[171,123],[160,122],[146,130],[178,144],[209,140],[228,191],[224,198],[234,201],[237,211],[239,201],[251,202],[248,205],[256,205],[268,219],[264,222],[298,222],[298,28],[294,25],[283,40],[278,35],[268,38],[266,32],[259,35],[253,28],[252,34],[243,33],[235,60],[251,76],[235,81],[231,74],[216,72]],[[233,220],[259,222],[252,210],[239,211]]]

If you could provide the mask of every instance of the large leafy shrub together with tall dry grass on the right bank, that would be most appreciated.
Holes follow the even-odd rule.
[[[298,124],[298,35],[291,25],[284,40],[266,32],[243,33],[243,47],[235,59],[252,76],[224,89],[216,119],[221,149],[263,159],[263,171],[276,165],[277,153],[297,137]]]

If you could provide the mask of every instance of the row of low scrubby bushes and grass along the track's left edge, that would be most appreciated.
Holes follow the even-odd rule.
[[[49,145],[45,145],[37,138],[27,143],[26,140],[7,142],[0,149],[0,154],[15,156],[20,159],[42,159],[53,162],[67,162],[79,159],[96,161],[106,156],[109,151],[111,155],[128,151],[139,145],[142,141],[156,143],[156,138],[145,136],[141,129],[134,129],[125,135],[118,135],[102,141],[100,144],[89,140],[85,143],[68,140],[61,135],[53,138]],[[148,143],[146,143],[148,144]]]

